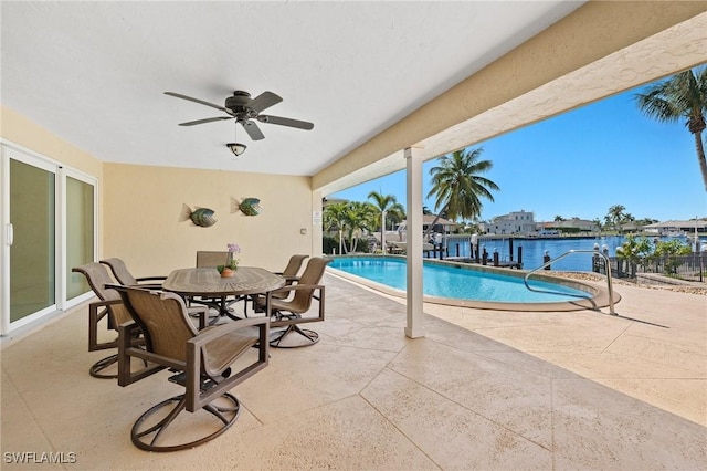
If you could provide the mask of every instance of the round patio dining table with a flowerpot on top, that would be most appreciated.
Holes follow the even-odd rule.
[[[238,320],[239,317],[229,310],[226,297],[240,299],[249,294],[267,294],[284,285],[284,278],[257,266],[239,266],[233,276],[229,278],[221,278],[217,269],[205,268],[172,271],[162,283],[162,290],[190,300],[197,296],[219,299],[219,315]],[[267,296],[267,303],[270,303],[270,296]],[[267,307],[270,312],[270,306]]]

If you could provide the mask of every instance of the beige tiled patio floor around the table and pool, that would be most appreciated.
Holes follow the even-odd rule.
[[[88,376],[106,353],[86,350],[87,305],[3,342],[1,468],[707,469],[706,296],[615,286],[619,317],[425,304],[413,341],[400,301],[325,284],[321,341],[273,349],[233,390],[239,421],[187,451],[130,443],[135,419],[179,388],[167,373],[126,388]]]

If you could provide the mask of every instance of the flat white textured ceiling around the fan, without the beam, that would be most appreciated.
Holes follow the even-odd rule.
[[[108,163],[312,176],[583,3],[3,1],[1,100]],[[315,127],[180,127],[224,114],[163,94],[236,90]]]

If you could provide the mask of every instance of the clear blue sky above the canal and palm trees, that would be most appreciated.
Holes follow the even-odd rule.
[[[556,216],[593,220],[614,205],[636,219],[687,220],[707,216],[694,136],[684,123],[645,117],[637,87],[469,147],[493,168],[483,174],[500,188],[482,199],[481,219],[532,211],[536,221]],[[703,133],[703,138],[705,134]],[[423,197],[430,168],[423,165]],[[368,201],[370,191],[405,202],[405,170],[327,196]],[[434,198],[423,201],[434,211]]]

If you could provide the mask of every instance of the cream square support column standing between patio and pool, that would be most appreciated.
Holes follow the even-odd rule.
[[[424,337],[422,302],[422,161],[423,149],[404,150],[408,187],[407,259],[408,259],[408,325],[410,338]]]

